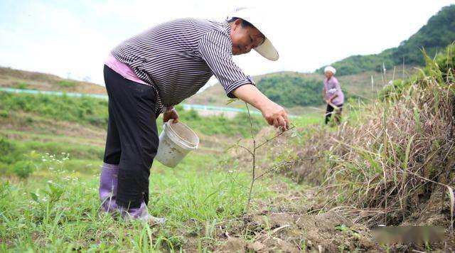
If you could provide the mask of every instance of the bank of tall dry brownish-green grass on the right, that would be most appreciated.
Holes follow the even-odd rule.
[[[369,226],[440,225],[453,232],[454,68],[427,62],[411,80],[394,82],[402,86],[389,87],[386,99],[360,105],[358,119],[337,129],[300,129],[300,141],[277,140],[269,159],[258,161],[289,156],[282,171],[321,185],[319,194],[330,196],[324,210]]]

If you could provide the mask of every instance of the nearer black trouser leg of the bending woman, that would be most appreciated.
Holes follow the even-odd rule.
[[[106,66],[105,77],[121,146],[116,202],[125,209],[140,208],[149,201],[150,167],[159,144],[156,93]]]

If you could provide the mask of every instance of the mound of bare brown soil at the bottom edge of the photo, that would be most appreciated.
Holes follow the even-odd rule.
[[[238,229],[246,236],[242,239],[225,232],[222,235],[227,241],[216,252],[380,251],[367,227],[337,212],[259,212],[245,216],[243,227]]]

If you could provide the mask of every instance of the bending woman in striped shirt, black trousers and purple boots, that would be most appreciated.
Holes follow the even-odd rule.
[[[267,123],[288,128],[284,108],[257,90],[232,60],[250,50],[278,60],[268,35],[262,15],[239,9],[222,22],[180,18],[161,23],[111,51],[104,67],[109,122],[100,175],[102,210],[119,211],[125,219],[164,222],[146,208],[159,145],[156,118],[163,113],[164,122],[176,122],[174,106],[213,75],[228,97],[252,104]]]

